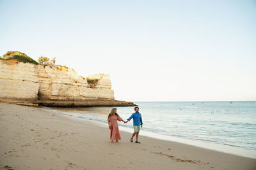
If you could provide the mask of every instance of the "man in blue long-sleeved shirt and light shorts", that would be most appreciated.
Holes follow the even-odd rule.
[[[139,138],[140,127],[142,127],[143,123],[142,123],[141,114],[139,113],[139,108],[135,107],[134,110],[135,110],[135,113],[132,113],[131,117],[129,117],[126,122],[130,121],[133,118],[134,133],[132,134],[131,142],[133,142],[133,137],[136,135],[135,143],[140,143],[138,141],[138,138]]]

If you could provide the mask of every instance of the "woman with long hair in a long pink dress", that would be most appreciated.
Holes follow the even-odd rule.
[[[108,128],[110,129],[110,140],[113,142],[116,140],[121,140],[121,136],[118,130],[118,123],[117,120],[120,122],[126,123],[117,113],[116,113],[116,108],[113,108],[111,112],[108,115]]]

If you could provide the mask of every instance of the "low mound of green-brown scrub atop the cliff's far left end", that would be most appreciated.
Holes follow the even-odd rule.
[[[2,60],[11,60],[16,59],[19,62],[29,62],[32,64],[38,64],[35,60],[31,59],[31,57],[28,57],[26,53],[18,52],[18,51],[9,51],[1,57]]]

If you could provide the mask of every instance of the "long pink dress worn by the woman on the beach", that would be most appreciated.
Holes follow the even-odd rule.
[[[122,118],[119,115],[113,115],[108,117],[108,122],[110,122],[110,140],[121,140],[121,136],[118,129],[117,120],[120,122]]]

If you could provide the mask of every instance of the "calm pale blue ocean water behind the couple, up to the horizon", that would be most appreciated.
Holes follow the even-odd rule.
[[[161,139],[183,139],[216,146],[233,146],[256,154],[256,103],[235,102],[135,102],[143,119],[141,134]],[[71,117],[108,124],[113,107],[53,108]],[[134,107],[116,107],[124,120]],[[132,132],[132,121],[118,122],[121,130]],[[159,137],[160,138],[160,137]]]

